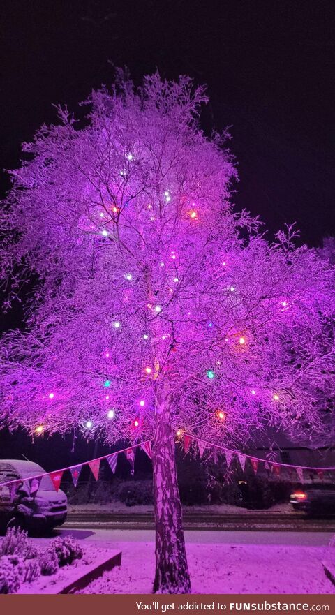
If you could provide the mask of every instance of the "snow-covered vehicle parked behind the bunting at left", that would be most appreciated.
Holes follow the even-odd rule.
[[[0,459],[0,483],[20,480],[45,473],[32,461]],[[10,501],[8,486],[0,487],[0,532],[20,526],[31,533],[48,533],[66,520],[68,501],[61,489],[56,491],[50,476],[40,481],[37,493],[31,496],[29,481],[20,482],[15,498]]]

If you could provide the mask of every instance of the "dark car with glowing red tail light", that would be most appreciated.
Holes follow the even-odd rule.
[[[335,514],[335,485],[308,484],[290,495],[295,510],[308,514]]]

